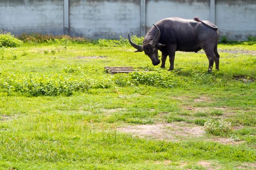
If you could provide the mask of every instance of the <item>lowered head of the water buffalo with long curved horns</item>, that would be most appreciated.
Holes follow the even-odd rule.
[[[161,33],[155,24],[153,24],[154,27],[157,29],[157,33],[155,34],[154,38],[150,40],[149,38],[152,37],[150,33],[146,34],[143,40],[143,45],[137,45],[130,39],[130,35],[128,34],[129,42],[130,44],[137,49],[135,52],[141,52],[144,51],[146,55],[149,56],[149,58],[152,61],[152,64],[154,66],[157,66],[160,63],[160,60],[158,59],[158,49],[162,46],[165,46],[163,44],[158,43]]]

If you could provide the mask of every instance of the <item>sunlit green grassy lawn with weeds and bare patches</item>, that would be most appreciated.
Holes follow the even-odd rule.
[[[0,170],[253,170],[256,44],[152,66],[127,41],[0,48]],[[132,66],[108,74],[105,66]]]

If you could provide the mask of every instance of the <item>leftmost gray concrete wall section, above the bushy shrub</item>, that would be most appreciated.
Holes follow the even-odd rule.
[[[0,0],[0,30],[63,34],[63,1]]]

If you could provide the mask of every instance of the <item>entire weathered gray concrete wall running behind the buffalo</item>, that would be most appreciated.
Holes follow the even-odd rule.
[[[256,36],[256,0],[0,0],[0,30],[86,38],[144,36],[165,17],[211,20],[232,40]]]

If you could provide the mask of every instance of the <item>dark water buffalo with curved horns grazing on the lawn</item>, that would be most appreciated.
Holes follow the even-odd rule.
[[[169,17],[158,21],[145,35],[143,45],[137,45],[131,41],[130,44],[137,51],[144,51],[154,66],[160,63],[158,50],[162,52],[161,68],[165,67],[167,55],[169,55],[170,68],[174,69],[174,58],[176,51],[194,51],[203,49],[209,60],[208,72],[212,72],[215,62],[219,69],[219,54],[217,51],[218,28],[210,21],[194,19],[183,19]]]

